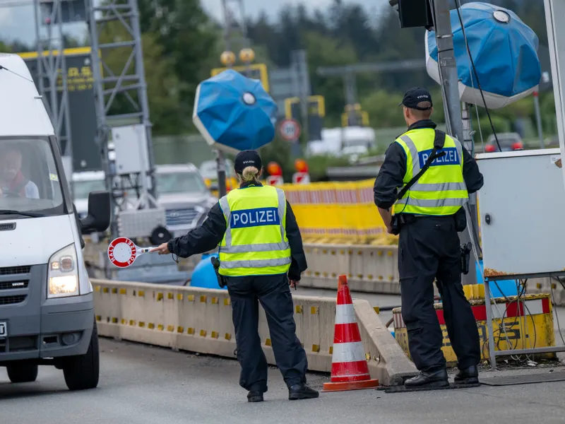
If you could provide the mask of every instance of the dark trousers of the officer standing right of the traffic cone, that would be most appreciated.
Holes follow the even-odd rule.
[[[460,242],[453,217],[418,217],[403,226],[398,271],[408,348],[417,369],[433,372],[446,366],[441,352],[444,337],[434,309],[434,280],[458,367],[477,365],[481,358],[479,331],[461,285]]]

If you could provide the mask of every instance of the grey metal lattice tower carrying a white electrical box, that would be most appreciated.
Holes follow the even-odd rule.
[[[126,232],[121,231],[122,221],[119,221],[126,216],[132,219],[143,216],[141,226],[144,227],[153,225],[152,221],[153,228],[165,225],[162,222],[165,211],[157,208],[155,200],[155,163],[138,3],[137,0],[85,0],[85,6],[92,49],[97,143],[102,150],[106,187],[112,194],[110,232],[117,237]],[[101,35],[109,40],[101,40]],[[121,69],[112,69],[106,63],[105,59],[112,54],[125,59]],[[116,163],[109,159],[110,141],[114,143]],[[124,148],[130,149],[129,155],[124,154]],[[133,193],[137,199],[133,208],[129,208],[128,199]],[[132,209],[130,215],[127,211]],[[138,228],[139,223],[133,227]],[[143,232],[129,236],[148,235]]]

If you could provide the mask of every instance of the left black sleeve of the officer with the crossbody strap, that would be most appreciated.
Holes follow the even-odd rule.
[[[406,153],[398,143],[388,146],[383,165],[376,176],[373,188],[375,204],[379,208],[389,209],[396,202],[398,189],[403,186],[406,173]]]

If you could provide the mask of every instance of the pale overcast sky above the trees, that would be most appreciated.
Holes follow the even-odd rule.
[[[34,42],[35,20],[33,8],[30,6],[32,0],[0,0],[0,38],[2,40],[19,39],[23,42]],[[345,3],[362,4],[368,10],[376,10],[388,4],[388,0],[344,0]],[[278,11],[287,4],[299,4],[299,0],[244,0],[245,12],[248,16],[257,16],[262,10],[266,10],[269,16],[275,18]],[[332,3],[332,0],[304,0],[310,9],[324,8]],[[13,4],[24,4],[24,6],[13,6]],[[201,0],[203,7],[217,19],[222,18],[221,0]],[[230,2],[234,4],[234,2]],[[266,8],[268,4],[268,8]],[[6,5],[10,5],[6,7]],[[73,35],[83,35],[84,25],[70,25],[66,30],[71,30]]]

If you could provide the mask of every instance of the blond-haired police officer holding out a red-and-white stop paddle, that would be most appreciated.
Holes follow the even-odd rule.
[[[239,189],[223,196],[200,227],[156,250],[186,258],[220,245],[218,271],[227,279],[232,300],[237,360],[242,367],[239,384],[249,391],[248,401],[263,401],[267,391],[268,365],[258,335],[258,302],[266,312],[288,399],[316,398],[318,391],[306,384],[308,362],[296,336],[290,293],[290,287],[296,287],[300,274],[307,269],[294,213],[282,189],[258,182],[258,153],[240,152],[234,170]]]

